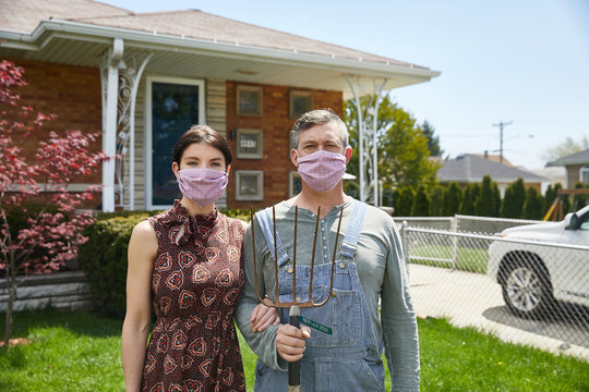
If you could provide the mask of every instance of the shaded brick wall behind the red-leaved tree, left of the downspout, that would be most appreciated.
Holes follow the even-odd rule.
[[[36,142],[47,139],[50,131],[63,134],[79,130],[84,133],[100,133],[103,127],[100,73],[98,69],[72,66],[23,59],[7,59],[24,68],[28,85],[20,88],[22,105],[31,106],[36,112],[57,114],[57,118],[43,126],[40,133],[31,136],[24,145],[25,154],[33,156]],[[101,137],[92,149],[101,148]],[[77,183],[101,183],[101,171],[91,176],[76,179]],[[97,194],[92,206],[100,203]]]

